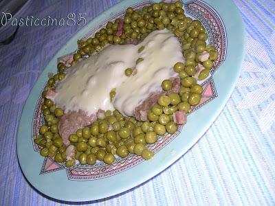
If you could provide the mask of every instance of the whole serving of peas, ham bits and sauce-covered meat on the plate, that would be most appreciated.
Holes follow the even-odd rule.
[[[67,167],[111,165],[129,154],[151,159],[147,146],[176,133],[201,100],[199,81],[218,55],[207,39],[177,1],[127,8],[123,19],[78,41],[42,93],[40,154]]]

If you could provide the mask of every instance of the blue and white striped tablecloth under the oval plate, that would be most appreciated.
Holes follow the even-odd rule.
[[[31,1],[25,16],[62,18],[75,12],[86,13],[91,21],[118,1]],[[241,77],[217,120],[153,179],[85,204],[275,205],[275,1],[234,2],[245,23],[246,55]],[[80,28],[19,27],[10,45],[0,45],[0,205],[69,204],[47,198],[28,184],[15,146],[30,90]]]

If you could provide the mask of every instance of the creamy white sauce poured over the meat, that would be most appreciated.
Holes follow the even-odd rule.
[[[142,46],[143,51],[138,53]],[[136,65],[137,58],[144,60]],[[162,90],[163,80],[176,76],[176,62],[184,62],[181,44],[166,29],[151,32],[138,45],[107,45],[69,69],[56,87],[54,102],[65,112],[83,110],[91,115],[98,109],[116,108],[132,116],[135,107],[151,92]],[[137,73],[127,77],[126,68],[135,68]],[[116,94],[110,102],[113,88]]]

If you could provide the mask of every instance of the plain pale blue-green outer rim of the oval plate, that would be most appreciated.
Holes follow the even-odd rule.
[[[143,183],[175,162],[184,155],[206,132],[214,119],[217,118],[239,78],[241,63],[244,58],[245,32],[241,15],[232,1],[206,1],[214,8],[225,24],[228,37],[228,49],[225,62],[214,73],[218,97],[188,116],[188,123],[184,126],[181,135],[175,138],[168,146],[157,152],[150,161],[144,161],[130,170],[115,176],[109,176],[96,181],[69,181],[65,170],[39,175],[43,158],[32,148],[32,117],[36,100],[41,88],[47,79],[47,73],[56,71],[56,59],[76,49],[76,41],[82,38],[89,29],[99,25],[104,19],[112,16],[122,8],[127,8],[137,1],[122,1],[113,8],[100,14],[83,30],[80,30],[62,49],[52,58],[25,103],[19,129],[17,132],[17,155],[23,174],[28,181],[40,192],[63,201],[92,201],[113,196],[120,192]]]

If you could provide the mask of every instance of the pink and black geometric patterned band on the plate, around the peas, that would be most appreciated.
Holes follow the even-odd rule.
[[[142,3],[136,3],[132,5],[135,9],[140,9],[144,5],[149,5],[153,3],[153,1],[143,1]],[[226,56],[226,47],[227,47],[227,38],[225,32],[225,26],[219,14],[210,7],[207,3],[203,1],[188,1],[184,3],[184,10],[186,11],[186,15],[192,16],[195,19],[199,19],[203,23],[203,26],[206,27],[206,31],[208,33],[208,41],[210,44],[214,45],[214,47],[218,51],[218,58],[214,62],[214,67],[211,70],[210,76],[201,82],[203,86],[203,93],[201,102],[198,106],[192,108],[192,112],[201,108],[208,102],[212,101],[217,97],[217,91],[214,86],[214,81],[212,78],[212,74],[214,71],[217,71],[218,67],[225,60]],[[101,23],[98,27],[91,30],[83,39],[87,39],[90,36],[94,36],[94,34],[104,27],[108,21],[113,19],[120,18],[120,16],[124,15],[124,11],[118,12],[114,14],[111,18],[107,19],[103,23]],[[58,61],[63,61],[65,63],[72,61],[72,54],[67,54],[58,58]],[[43,90],[42,90],[43,91]],[[41,93],[42,93],[41,91]],[[34,151],[39,152],[40,148],[37,144],[34,143],[34,137],[39,135],[39,127],[44,124],[43,115],[41,113],[41,106],[43,104],[43,98],[40,95],[39,99],[36,103],[36,108],[34,111],[34,117],[32,122],[32,144],[34,147]],[[173,135],[164,135],[163,137],[158,137],[158,141],[156,144],[152,146],[148,146],[151,150],[156,154],[159,150],[164,148],[167,144],[169,144],[182,130],[182,126],[179,126],[177,133]],[[74,181],[89,181],[94,179],[101,179],[107,176],[112,176],[123,172],[125,170],[129,170],[133,168],[135,165],[144,161],[142,157],[138,157],[136,155],[129,155],[126,159],[117,158],[113,165],[106,165],[102,162],[97,162],[95,165],[80,165],[79,163],[74,165],[71,168],[65,168],[64,164],[56,163],[52,157],[45,157],[43,161],[43,165],[41,167],[40,174],[47,174],[49,172],[55,172],[58,170],[65,169],[67,172],[67,176],[69,180]]]

